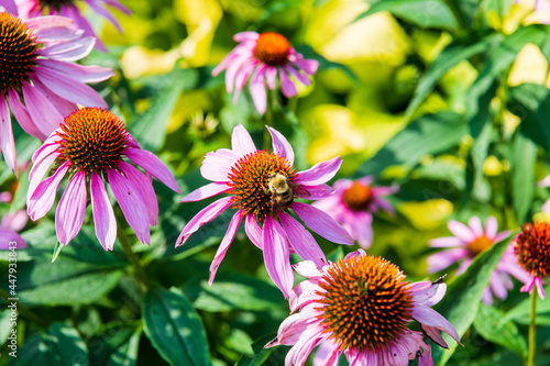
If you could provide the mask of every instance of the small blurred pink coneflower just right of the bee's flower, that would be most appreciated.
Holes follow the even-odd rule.
[[[372,187],[372,181],[371,176],[358,180],[339,179],[332,186],[334,195],[314,203],[342,224],[364,249],[373,242],[373,213],[380,209],[394,213],[389,202],[382,196],[397,191],[395,187]]]

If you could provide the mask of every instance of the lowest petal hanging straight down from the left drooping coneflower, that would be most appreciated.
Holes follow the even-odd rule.
[[[117,220],[105,184],[97,173],[90,176],[90,193],[96,236],[103,249],[112,251],[117,239]]]

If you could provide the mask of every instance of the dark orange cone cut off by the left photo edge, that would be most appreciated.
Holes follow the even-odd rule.
[[[0,92],[6,97],[15,89],[21,95],[22,82],[30,82],[29,74],[36,66],[40,43],[26,24],[10,13],[0,13]]]

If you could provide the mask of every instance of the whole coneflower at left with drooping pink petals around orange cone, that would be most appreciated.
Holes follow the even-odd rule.
[[[112,251],[117,221],[105,181],[138,239],[150,243],[150,225],[156,225],[158,218],[156,196],[151,179],[131,163],[179,192],[168,168],[138,145],[117,115],[99,108],[80,109],[65,118],[34,153],[32,162],[26,198],[32,220],[50,211],[57,186],[65,176],[69,177],[55,212],[55,230],[63,245],[80,231],[89,191],[96,235],[106,251]],[[54,163],[55,173],[43,180]]]

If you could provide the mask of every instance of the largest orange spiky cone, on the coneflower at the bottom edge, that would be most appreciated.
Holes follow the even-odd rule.
[[[319,315],[324,332],[340,348],[380,351],[396,340],[411,320],[413,296],[402,271],[371,255],[340,259],[319,286]]]

